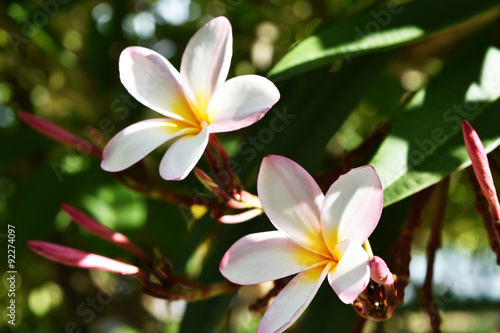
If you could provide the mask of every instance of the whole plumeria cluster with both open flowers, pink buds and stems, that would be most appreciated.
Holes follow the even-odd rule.
[[[396,283],[386,263],[373,256],[368,243],[383,207],[377,173],[371,166],[352,169],[323,194],[300,165],[270,155],[261,164],[258,197],[244,191],[215,133],[253,124],[278,101],[280,94],[271,81],[257,75],[226,81],[231,55],[231,25],[224,17],[211,20],[192,37],[180,72],[152,50],[125,49],[119,60],[121,82],[139,102],[164,117],[125,128],[103,150],[99,145],[91,146],[92,155],[102,153],[104,170],[118,172],[168,142],[170,146],[159,168],[164,179],[181,180],[194,169],[207,189],[226,204],[223,208],[250,208],[239,215],[214,216],[220,222],[242,222],[264,210],[277,230],[247,235],[227,250],[219,268],[230,282],[201,285],[178,278],[171,273],[167,260],[150,260],[125,235],[69,205],[62,208],[76,223],[131,252],[143,269],[43,241],[30,241],[28,246],[62,264],[133,275],[143,284],[145,293],[169,300],[204,299],[233,291],[239,285],[295,275],[269,306],[259,332],[281,332],[290,327],[325,279],[342,302],[353,303],[361,315],[371,317],[375,302],[367,286],[375,284],[385,290],[380,293],[384,301],[384,295],[394,294]],[[81,149],[77,136],[26,112],[20,115],[40,132]],[[212,169],[223,171],[217,181],[195,168],[204,153]],[[386,318],[390,313],[392,310],[385,311],[377,318]]]

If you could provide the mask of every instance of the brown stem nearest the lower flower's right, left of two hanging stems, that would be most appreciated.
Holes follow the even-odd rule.
[[[397,304],[403,304],[405,288],[410,279],[411,243],[415,235],[415,230],[420,226],[420,220],[425,205],[429,201],[434,186],[420,191],[413,197],[413,201],[408,209],[408,220],[405,229],[397,241]]]

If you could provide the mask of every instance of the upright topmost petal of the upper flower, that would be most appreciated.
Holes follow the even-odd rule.
[[[210,96],[226,80],[232,53],[231,24],[222,16],[201,27],[186,46],[181,62],[182,83],[201,118]]]

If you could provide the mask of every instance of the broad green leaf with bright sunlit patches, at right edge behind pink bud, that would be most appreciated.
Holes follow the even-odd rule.
[[[412,195],[470,165],[461,121],[471,122],[487,151],[500,144],[500,50],[491,30],[471,38],[396,119],[371,160],[384,188],[384,204]]]

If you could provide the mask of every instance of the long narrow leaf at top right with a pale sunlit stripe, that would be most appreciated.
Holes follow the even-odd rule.
[[[273,80],[339,59],[397,47],[442,31],[498,4],[496,0],[415,0],[335,23],[290,50],[269,72]]]

